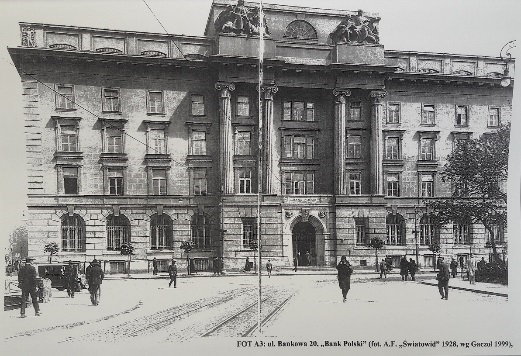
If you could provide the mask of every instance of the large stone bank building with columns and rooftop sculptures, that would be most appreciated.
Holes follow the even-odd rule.
[[[146,271],[186,266],[190,241],[196,270],[239,269],[260,199],[276,266],[374,266],[373,237],[395,263],[432,265],[433,239],[486,256],[482,226],[438,228],[425,201],[450,194],[457,140],[510,120],[513,61],[384,50],[374,14],[265,5],[259,96],[255,6],[215,0],[204,37],[20,24],[29,254],[56,242],[57,260],[123,272],[130,242]]]

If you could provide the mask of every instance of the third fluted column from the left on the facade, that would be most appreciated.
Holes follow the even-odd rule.
[[[346,194],[346,106],[349,89],[333,89],[335,99],[335,194]]]

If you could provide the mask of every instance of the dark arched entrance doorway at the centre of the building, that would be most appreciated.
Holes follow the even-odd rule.
[[[316,231],[309,222],[299,222],[293,227],[293,257],[299,266],[316,266]]]

